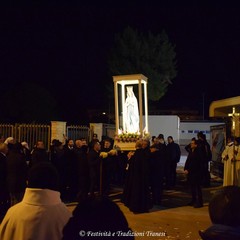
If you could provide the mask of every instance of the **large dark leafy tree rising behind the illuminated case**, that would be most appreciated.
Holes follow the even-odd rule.
[[[127,27],[117,34],[109,57],[110,75],[141,73],[148,78],[148,97],[157,101],[176,77],[175,46],[166,32],[146,36]]]

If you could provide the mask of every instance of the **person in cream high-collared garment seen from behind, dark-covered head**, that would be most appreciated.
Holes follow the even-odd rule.
[[[23,200],[11,207],[0,225],[1,240],[59,240],[71,217],[60,199],[58,173],[48,162],[32,166]]]

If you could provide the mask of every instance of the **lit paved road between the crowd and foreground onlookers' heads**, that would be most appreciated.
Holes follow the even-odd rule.
[[[212,176],[210,188],[203,189],[204,207],[186,206],[190,195],[185,182],[182,168],[178,168],[178,185],[174,190],[165,190],[161,206],[154,206],[149,213],[134,214],[125,207],[120,199],[121,188],[114,188],[110,197],[125,214],[129,226],[137,240],[155,239],[200,239],[199,230],[206,229],[210,224],[208,202],[211,196],[222,186],[221,179]],[[73,209],[74,206],[71,206]]]

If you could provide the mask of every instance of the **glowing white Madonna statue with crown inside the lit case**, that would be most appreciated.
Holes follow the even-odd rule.
[[[127,97],[124,106],[124,123],[126,132],[136,133],[139,131],[138,102],[132,86],[127,87]]]

